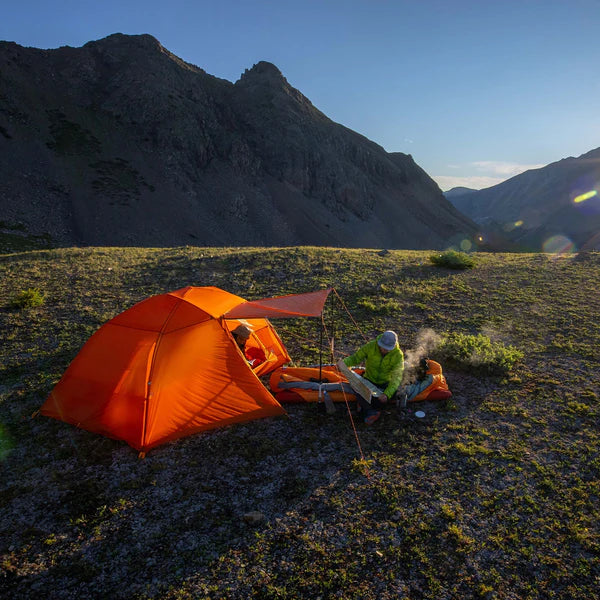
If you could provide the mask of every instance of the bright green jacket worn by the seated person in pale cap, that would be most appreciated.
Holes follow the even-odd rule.
[[[372,340],[359,348],[354,354],[344,359],[348,367],[363,364],[365,365],[364,377],[383,389],[383,393],[391,398],[402,382],[404,373],[404,354],[398,344],[393,350],[390,350],[385,356],[381,355],[377,340]]]

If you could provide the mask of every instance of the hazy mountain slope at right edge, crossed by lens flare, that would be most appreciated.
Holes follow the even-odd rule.
[[[447,196],[458,210],[523,249],[600,249],[600,148],[484,190]]]

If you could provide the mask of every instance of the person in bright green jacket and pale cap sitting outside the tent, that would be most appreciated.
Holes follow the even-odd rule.
[[[363,377],[382,391],[380,395],[371,398],[371,404],[360,395],[356,395],[358,410],[365,415],[365,423],[372,425],[379,419],[381,409],[393,397],[402,382],[404,354],[398,346],[396,332],[384,331],[376,339],[346,357],[344,363],[347,367],[364,364]]]

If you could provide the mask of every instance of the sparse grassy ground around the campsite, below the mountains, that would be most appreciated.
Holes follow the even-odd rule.
[[[596,597],[599,254],[451,271],[427,252],[57,249],[0,255],[0,281],[0,597]],[[333,286],[357,323],[328,309],[339,355],[392,328],[405,352],[483,334],[523,359],[500,375],[445,360],[453,398],[357,437],[345,407],[293,405],[138,460],[31,418],[102,323],[186,285]],[[24,290],[41,303],[16,306]],[[318,358],[314,319],[275,325],[296,363]]]

